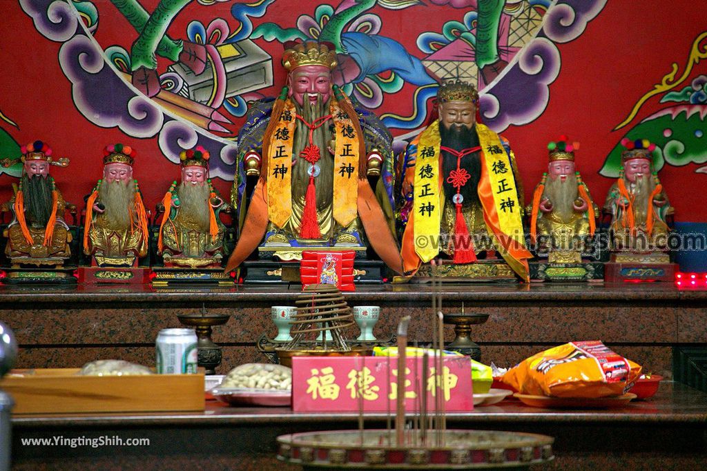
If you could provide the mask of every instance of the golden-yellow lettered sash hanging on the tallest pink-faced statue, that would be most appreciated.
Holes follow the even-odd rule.
[[[334,149],[334,219],[343,227],[356,218],[358,198],[358,138],[349,115],[341,112],[334,98],[329,105],[335,129]],[[281,123],[273,133],[267,155],[268,218],[283,227],[292,215],[292,146],[297,127],[295,105],[289,98],[278,119]],[[328,126],[328,124],[324,124]],[[306,162],[305,162],[306,163]]]

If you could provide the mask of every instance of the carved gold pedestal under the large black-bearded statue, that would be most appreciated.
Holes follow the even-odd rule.
[[[457,265],[455,263],[442,263],[431,266],[424,264],[412,278],[411,283],[441,282],[518,282],[518,276],[503,260],[480,260],[475,263]],[[399,278],[393,282],[400,281]]]

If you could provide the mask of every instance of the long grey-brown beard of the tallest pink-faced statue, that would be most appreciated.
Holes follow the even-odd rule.
[[[317,119],[329,114],[329,100],[322,102],[322,95],[317,96],[317,102],[310,104],[305,101],[304,106],[295,104],[295,112],[299,114],[308,123],[314,123]],[[334,157],[329,153],[329,140],[332,138],[332,133],[329,131],[329,126],[333,121],[329,120],[315,129],[312,135],[312,143],[319,148],[320,160],[317,165],[320,166],[321,172],[315,179],[315,188],[317,190],[317,208],[320,210],[327,207],[331,203],[332,185],[334,184],[334,171],[332,168]],[[309,128],[300,120],[297,120],[295,128],[294,141],[292,152],[298,156],[296,165],[292,167],[292,198],[293,201],[304,201],[309,184],[309,174],[307,173],[310,163],[299,157],[302,150],[309,145]]]

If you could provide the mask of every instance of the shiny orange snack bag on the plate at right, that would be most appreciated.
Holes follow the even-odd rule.
[[[640,365],[591,340],[534,354],[509,369],[501,381],[522,394],[605,398],[624,394],[640,374]]]

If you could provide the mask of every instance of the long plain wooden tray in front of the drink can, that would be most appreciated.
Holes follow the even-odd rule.
[[[78,371],[13,370],[0,388],[15,400],[13,414],[204,410],[203,373],[77,376]]]

